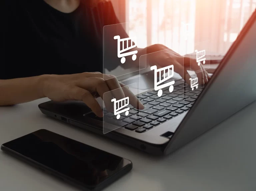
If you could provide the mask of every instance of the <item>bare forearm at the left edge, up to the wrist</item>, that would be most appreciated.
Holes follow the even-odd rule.
[[[41,84],[45,75],[0,80],[0,106],[25,103],[43,98]]]

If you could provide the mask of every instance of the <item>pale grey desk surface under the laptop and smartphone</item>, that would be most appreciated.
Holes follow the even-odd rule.
[[[126,176],[106,191],[256,190],[256,102],[175,153],[154,157],[43,115],[48,99],[0,107],[0,144],[48,129],[133,162]],[[0,190],[79,190],[0,151]]]

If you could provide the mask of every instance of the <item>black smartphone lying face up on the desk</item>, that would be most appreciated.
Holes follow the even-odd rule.
[[[45,129],[9,141],[1,149],[83,190],[102,190],[132,169],[128,159]]]

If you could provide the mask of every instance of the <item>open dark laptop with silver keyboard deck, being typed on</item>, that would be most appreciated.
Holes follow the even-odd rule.
[[[154,155],[170,154],[256,99],[255,34],[256,12],[252,14],[207,85],[191,90],[183,79],[178,79],[172,93],[163,89],[166,96],[160,100],[153,88],[144,90],[137,95],[141,101],[148,104],[150,109],[163,109],[151,114],[140,110],[140,114],[145,115],[138,118],[138,111],[130,108],[129,115],[121,115],[121,120],[117,120],[112,113],[105,112],[113,127],[119,126],[109,133],[103,134],[102,118],[95,116],[82,102],[49,101],[40,104],[39,109],[55,119],[141,151]],[[183,88],[184,92],[180,96],[179,90]]]

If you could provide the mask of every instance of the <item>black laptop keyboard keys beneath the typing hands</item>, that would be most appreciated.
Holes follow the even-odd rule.
[[[172,93],[169,92],[169,87],[163,88],[161,97],[157,96],[157,91],[155,90],[137,95],[145,108],[138,110],[132,105],[128,105],[127,107],[130,107],[129,114],[127,116],[124,113],[120,114],[121,117],[119,119],[116,119],[113,113],[103,109],[105,122],[130,131],[143,133],[189,111],[204,87],[199,86],[192,91],[183,79],[177,82],[174,84]],[[182,92],[183,87],[184,94]],[[103,117],[97,117],[94,113],[89,113],[86,116],[103,121]]]

